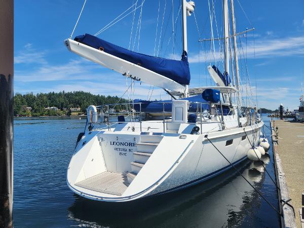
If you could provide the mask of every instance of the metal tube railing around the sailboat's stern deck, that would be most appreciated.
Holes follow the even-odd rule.
[[[162,119],[160,121],[154,121],[154,123],[163,123],[163,132],[166,132],[166,124],[168,123],[168,120],[170,119],[169,117],[172,116],[172,109],[171,111],[168,111],[169,106],[166,107],[166,105],[171,105],[172,102],[168,102],[168,101],[159,101],[159,102],[154,102],[154,103],[159,103],[162,104],[163,108],[162,111],[148,111],[149,115],[158,115],[159,117],[161,117]],[[142,111],[142,105],[146,104],[143,102],[128,102],[128,103],[116,103],[116,104],[106,104],[106,105],[100,105],[97,106],[97,108],[103,113],[104,121],[106,123],[106,125],[108,126],[108,130],[110,131],[111,126],[113,124],[122,124],[122,123],[131,123],[131,122],[139,122],[140,124],[140,131],[142,131],[142,119],[143,119],[143,115],[146,113],[146,111]],[[134,108],[134,106],[137,105],[136,109]],[[138,105],[139,105],[139,110],[138,110]],[[208,105],[208,108],[203,108],[203,105]],[[126,111],[121,111],[122,107],[125,106],[126,107]],[[119,107],[120,110],[116,111],[114,108],[115,107]],[[170,106],[171,108],[171,106]],[[202,126],[203,124],[206,123],[210,123],[210,121],[208,122],[206,119],[204,119],[204,117],[209,116],[211,114],[211,103],[209,102],[192,102],[189,101],[188,102],[188,115],[190,114],[195,114],[196,118],[199,117],[199,121],[196,120],[195,123],[189,123],[187,122],[186,124],[188,125],[197,125],[200,124],[200,130],[202,133]],[[208,110],[206,112],[206,110]],[[223,128],[223,119],[220,118],[219,115],[219,109],[216,107],[215,105],[215,116],[219,116],[220,121],[217,120],[213,120],[212,123],[219,123],[222,125]],[[170,116],[171,114],[171,116]],[[110,117],[113,116],[120,116],[120,115],[127,115],[126,117],[124,116],[124,120],[123,121],[111,121]],[[126,120],[126,119],[130,119],[130,121]],[[133,128],[135,130],[135,127]]]

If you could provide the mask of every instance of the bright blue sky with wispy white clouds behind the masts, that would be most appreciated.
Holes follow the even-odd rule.
[[[97,37],[143,54],[179,59],[180,0],[145,0],[141,7],[142,1],[87,0],[72,37],[97,33],[137,2],[135,15],[130,13]],[[218,41],[214,48],[210,42],[198,42],[211,36],[208,2],[211,7],[212,0],[195,1],[195,14],[187,17],[190,87],[214,85],[207,71],[209,64],[223,69]],[[222,1],[213,2],[213,36],[222,37]],[[238,36],[244,104],[251,100],[258,107],[274,110],[283,103],[285,109],[297,109],[301,83],[304,86],[304,2],[234,2],[237,32],[255,28]],[[64,46],[83,3],[83,0],[15,1],[15,93],[82,90],[118,97],[124,94],[130,79],[126,81],[120,73],[71,53]],[[169,98],[163,90],[144,83],[136,83],[134,88],[134,98]],[[124,97],[128,96],[131,94],[125,93]]]

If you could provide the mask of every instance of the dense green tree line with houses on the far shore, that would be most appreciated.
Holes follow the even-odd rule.
[[[14,95],[15,116],[69,116],[71,107],[81,108],[85,113],[89,105],[115,104],[120,100],[117,96],[94,95],[84,91],[74,92],[49,92],[33,94],[16,93]],[[120,103],[128,102],[121,99]],[[31,107],[29,110],[28,107]],[[58,110],[46,109],[46,107],[57,107]],[[120,108],[117,106],[116,108]]]

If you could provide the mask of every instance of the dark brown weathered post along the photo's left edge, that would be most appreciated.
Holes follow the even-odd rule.
[[[0,34],[0,227],[13,227],[13,0],[0,0]]]

